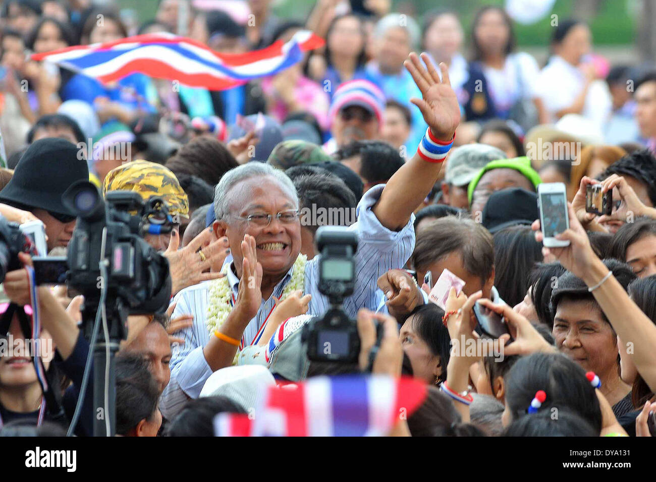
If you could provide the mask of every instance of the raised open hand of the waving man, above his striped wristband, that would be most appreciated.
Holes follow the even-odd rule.
[[[410,102],[419,108],[433,135],[448,142],[453,137],[461,117],[458,98],[451,89],[449,70],[444,62],[440,62],[440,80],[440,74],[435,70],[430,57],[422,53],[421,59],[426,66],[415,52],[411,52],[403,62],[422,94],[422,98],[412,98]]]

